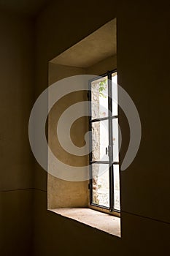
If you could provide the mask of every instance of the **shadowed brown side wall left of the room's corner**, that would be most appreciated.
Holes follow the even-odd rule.
[[[0,254],[31,255],[33,163],[28,118],[34,102],[34,26],[0,12]]]

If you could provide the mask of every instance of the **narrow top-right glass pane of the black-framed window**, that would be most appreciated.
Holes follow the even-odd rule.
[[[112,74],[112,116],[117,116],[117,72]]]

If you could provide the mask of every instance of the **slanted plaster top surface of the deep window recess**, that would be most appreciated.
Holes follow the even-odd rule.
[[[50,62],[69,67],[90,67],[117,53],[116,19],[109,21]]]

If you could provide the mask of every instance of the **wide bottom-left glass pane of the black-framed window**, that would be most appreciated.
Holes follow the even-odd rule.
[[[92,165],[93,203],[109,207],[109,165]]]

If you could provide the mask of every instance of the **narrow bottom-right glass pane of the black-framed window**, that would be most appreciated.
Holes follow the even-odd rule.
[[[120,211],[120,178],[119,165],[113,165],[114,170],[114,208]]]

